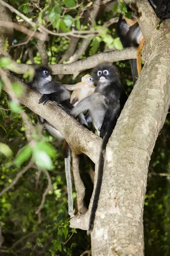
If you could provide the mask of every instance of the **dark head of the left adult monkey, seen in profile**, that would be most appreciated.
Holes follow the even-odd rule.
[[[34,74],[34,80],[38,80],[38,81],[45,81],[45,83],[48,83],[49,81],[52,80],[51,77],[51,70],[49,67],[40,65],[35,67],[35,74]]]

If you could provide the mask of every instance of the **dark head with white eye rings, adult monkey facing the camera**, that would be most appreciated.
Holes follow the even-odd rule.
[[[99,64],[93,70],[94,80],[98,83],[108,83],[117,80],[118,74],[116,67],[110,63]]]

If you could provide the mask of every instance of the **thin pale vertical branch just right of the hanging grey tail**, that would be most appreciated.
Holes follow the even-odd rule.
[[[79,174],[79,156],[74,154],[73,151],[71,151],[71,155],[72,155],[74,184],[77,192],[77,208],[79,213],[85,213],[87,212],[87,208],[85,207],[84,201],[83,201],[85,196],[85,186]]]

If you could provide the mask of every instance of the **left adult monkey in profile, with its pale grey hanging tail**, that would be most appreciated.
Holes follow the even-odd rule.
[[[65,88],[64,85],[59,82],[51,81],[51,73],[50,69],[45,66],[35,67],[35,75],[33,80],[28,82],[27,84],[37,90],[39,93],[42,93],[42,97],[40,98],[39,104],[45,104],[48,100],[53,101],[57,105],[59,105],[62,109],[64,109],[68,114],[70,114],[73,105],[69,102],[70,93]],[[83,116],[83,115],[82,115]],[[79,122],[83,125],[87,126],[87,122],[85,118],[79,116]],[[45,119],[39,116],[40,122],[45,125],[45,128],[51,133],[54,137],[59,139],[64,139],[59,131],[54,128],[53,125],[48,123]],[[68,143],[64,143],[63,147],[63,155],[65,157],[65,176],[67,181],[67,189],[68,189],[68,214],[73,215],[73,198],[72,198],[72,182],[71,182],[71,151]]]

